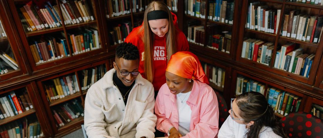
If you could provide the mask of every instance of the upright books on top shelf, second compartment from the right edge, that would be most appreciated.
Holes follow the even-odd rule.
[[[260,2],[250,3],[245,28],[277,34],[280,14],[280,9],[272,9]]]

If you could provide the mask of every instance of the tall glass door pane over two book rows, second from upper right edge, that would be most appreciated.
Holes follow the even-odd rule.
[[[275,48],[282,5],[248,1],[241,57],[269,66]]]

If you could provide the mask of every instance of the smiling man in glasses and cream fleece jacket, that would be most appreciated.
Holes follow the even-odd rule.
[[[154,89],[138,68],[138,48],[120,44],[113,69],[85,98],[84,127],[90,138],[154,138]]]

